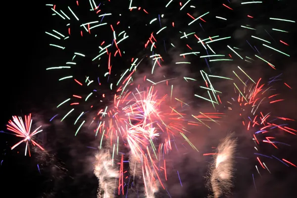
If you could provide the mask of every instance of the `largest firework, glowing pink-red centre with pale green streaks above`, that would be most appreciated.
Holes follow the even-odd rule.
[[[212,67],[218,63],[253,63],[255,60],[275,68],[275,63],[259,55],[258,50],[266,48],[290,56],[286,52],[288,49],[280,50],[271,45],[272,36],[278,37],[276,33],[287,31],[279,28],[278,24],[269,30],[258,30],[255,21],[295,21],[258,16],[258,10],[249,9],[265,7],[265,3],[270,1],[219,4],[216,11],[209,10],[205,2],[169,0],[160,4],[158,1],[164,14],[155,14],[154,9],[138,6],[139,2],[132,0],[127,1],[123,10],[114,9],[113,12],[113,6],[118,7],[118,2],[114,2],[101,4],[92,0],[90,4],[87,2],[91,11],[85,8],[86,2],[76,1],[69,6],[48,4],[54,17],[62,19],[64,24],[58,31],[46,32],[56,42],[50,46],[69,52],[72,58],[64,66],[47,70],[57,69],[61,75],[58,80],[61,83],[73,82],[74,89],[80,93],[71,94],[57,106],[62,117],[56,118],[62,122],[69,117],[77,125],[75,135],[83,127],[94,130],[99,136],[99,148],[108,145],[112,150],[111,160],[115,156],[121,158],[118,194],[124,193],[124,159],[118,148],[119,145],[128,147],[130,163],[135,163],[130,174],[142,177],[146,196],[153,197],[159,187],[164,188],[163,180],[167,180],[163,153],[170,153],[172,144],[175,147],[178,142],[187,142],[197,150],[186,136],[191,132],[189,126],[210,128],[207,122],[217,123],[216,119],[222,116],[219,113],[193,113],[191,109],[195,105],[191,102],[194,99],[180,93],[181,90],[192,93],[189,87],[199,87],[203,91],[192,94],[195,101],[209,102],[216,112],[222,92],[214,88],[212,80],[229,78],[207,74],[206,69],[200,71],[201,75],[192,76],[187,72],[189,68],[205,65],[211,73]],[[129,14],[125,9],[130,10]],[[242,13],[246,12],[242,9],[251,13],[243,16]],[[234,12],[241,17],[230,16],[229,13]],[[239,24],[238,18],[242,19],[241,23],[247,22]],[[208,22],[211,20],[214,22]],[[229,30],[226,28],[229,24],[235,24],[246,36],[239,39],[238,31],[226,33],[224,30]],[[256,35],[256,30],[261,34]],[[103,32],[107,34],[103,35]],[[86,44],[85,48],[82,44]],[[283,40],[280,44],[288,46]],[[170,60],[171,56],[174,60]],[[160,68],[168,62],[175,66],[164,72]]]

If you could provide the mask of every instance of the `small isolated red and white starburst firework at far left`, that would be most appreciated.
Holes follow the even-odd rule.
[[[22,138],[22,140],[17,144],[15,144],[14,146],[12,146],[11,149],[16,148],[21,143],[26,143],[25,155],[27,154],[27,150],[28,150],[29,155],[31,156],[30,146],[29,146],[29,142],[31,142],[33,146],[37,146],[40,149],[44,150],[44,148],[42,148],[39,144],[37,144],[32,139],[36,134],[42,132],[42,130],[39,130],[42,126],[38,127],[35,130],[31,129],[32,127],[31,113],[28,116],[25,115],[24,121],[21,117],[12,116],[12,120],[9,120],[6,126],[7,126],[7,130],[13,132],[13,135],[15,135],[16,137]]]

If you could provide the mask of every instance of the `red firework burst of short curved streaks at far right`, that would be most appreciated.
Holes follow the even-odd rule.
[[[266,161],[270,159],[276,159],[288,166],[296,166],[287,159],[281,159],[267,152],[265,145],[270,145],[272,148],[279,149],[284,146],[290,146],[286,143],[279,142],[277,137],[282,133],[289,136],[296,136],[297,130],[290,128],[289,123],[295,120],[277,116],[272,112],[275,109],[275,105],[279,102],[283,102],[285,99],[277,92],[277,89],[273,89],[273,83],[281,80],[280,75],[270,78],[267,83],[263,83],[262,79],[253,81],[250,77],[249,81],[244,81],[241,78],[241,85],[234,83],[234,90],[237,94],[236,98],[232,98],[228,101],[231,104],[228,109],[236,113],[239,113],[242,118],[242,125],[244,132],[247,132],[246,137],[250,138],[254,142],[254,154],[258,165],[255,168],[260,175],[259,167],[268,171]],[[284,83],[284,87],[291,89],[291,87]],[[264,147],[264,148],[263,148]]]

